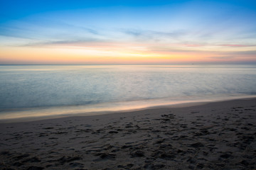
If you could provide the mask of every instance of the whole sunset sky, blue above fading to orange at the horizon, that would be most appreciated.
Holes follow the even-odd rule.
[[[256,64],[256,1],[0,0],[0,64]]]

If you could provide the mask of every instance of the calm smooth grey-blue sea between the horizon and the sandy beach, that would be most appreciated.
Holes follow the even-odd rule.
[[[120,111],[255,94],[255,65],[0,66],[0,119]]]

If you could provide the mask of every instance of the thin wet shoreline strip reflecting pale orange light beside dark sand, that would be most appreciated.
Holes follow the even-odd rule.
[[[30,122],[30,121],[36,121],[36,120],[48,120],[48,119],[55,119],[55,118],[66,118],[66,117],[75,117],[75,116],[93,116],[93,115],[105,115],[105,114],[113,114],[113,113],[129,113],[134,111],[144,111],[154,108],[180,108],[180,107],[188,107],[188,106],[200,106],[207,103],[216,103],[216,102],[223,102],[223,101],[235,101],[235,100],[247,100],[247,99],[253,99],[256,98],[256,95],[251,96],[233,96],[229,98],[222,98],[222,99],[205,99],[205,100],[197,100],[197,101],[179,101],[179,102],[170,102],[170,103],[164,103],[164,104],[147,104],[145,106],[139,106],[132,109],[129,108],[119,108],[119,109],[113,109],[113,110],[103,110],[103,111],[80,111],[78,113],[60,113],[60,114],[53,114],[53,115],[33,115],[33,116],[26,116],[21,118],[8,118],[8,112],[7,118],[0,117],[0,124],[1,123],[18,123],[18,122]],[[78,107],[79,106],[74,106]],[[83,106],[86,107],[86,106]],[[35,111],[37,109],[34,109]],[[55,109],[56,110],[56,109]],[[62,109],[63,110],[63,109]],[[31,114],[33,114],[33,109],[31,110]],[[48,112],[50,112],[49,110]],[[16,111],[19,114],[30,112],[30,111]],[[56,112],[56,111],[55,111]]]

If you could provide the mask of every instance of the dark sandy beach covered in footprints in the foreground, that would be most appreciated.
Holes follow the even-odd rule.
[[[256,98],[0,124],[0,169],[256,169]]]

